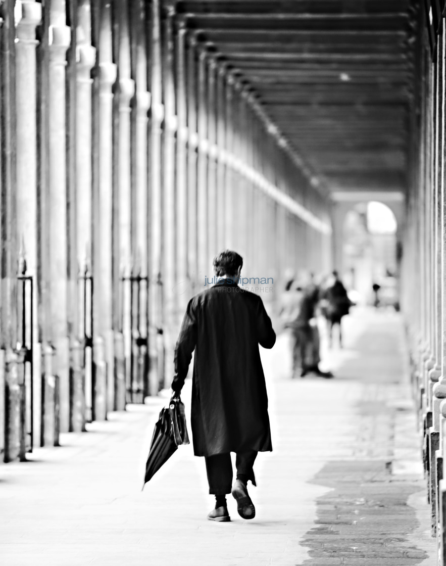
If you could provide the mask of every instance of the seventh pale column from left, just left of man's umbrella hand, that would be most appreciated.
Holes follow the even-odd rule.
[[[162,337],[162,198],[161,136],[164,120],[161,75],[160,0],[151,3],[151,279],[149,286],[149,385],[152,395],[164,387],[164,341]]]

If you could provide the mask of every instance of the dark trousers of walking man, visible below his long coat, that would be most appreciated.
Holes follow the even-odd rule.
[[[254,466],[256,456],[257,452],[251,450],[237,453],[235,457],[237,474],[245,474],[253,485],[255,485],[255,478],[252,466]],[[230,494],[233,479],[231,454],[226,452],[225,454],[215,454],[215,456],[205,456],[204,460],[208,473],[209,494]]]

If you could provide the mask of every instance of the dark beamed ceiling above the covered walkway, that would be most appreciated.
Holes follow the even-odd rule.
[[[412,3],[184,0],[177,9],[331,191],[404,191]]]

